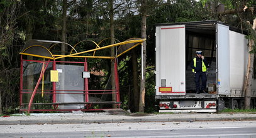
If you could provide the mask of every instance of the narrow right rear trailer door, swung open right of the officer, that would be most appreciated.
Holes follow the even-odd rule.
[[[230,36],[229,27],[217,24],[218,94],[230,94]]]

